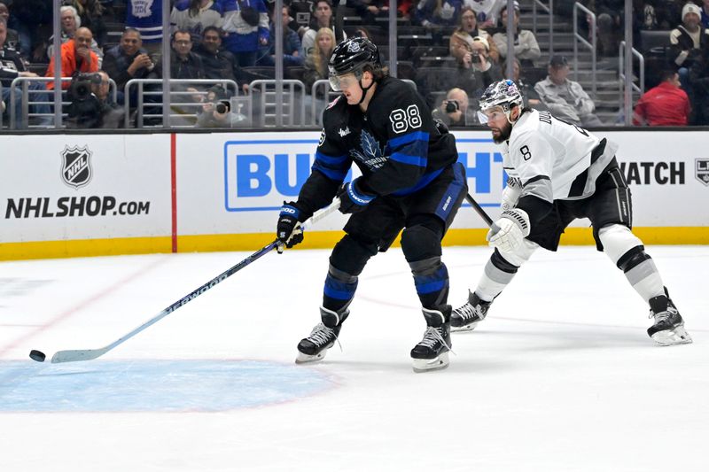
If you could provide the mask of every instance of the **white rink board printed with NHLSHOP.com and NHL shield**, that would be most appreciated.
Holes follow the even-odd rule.
[[[169,135],[0,136],[0,149],[0,243],[171,234]]]

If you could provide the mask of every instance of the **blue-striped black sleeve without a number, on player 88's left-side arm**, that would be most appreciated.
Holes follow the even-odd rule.
[[[330,204],[352,166],[352,159],[337,135],[331,112],[336,110],[329,109],[323,114],[323,131],[317,145],[316,160],[298,195],[296,205],[300,208],[301,221]]]

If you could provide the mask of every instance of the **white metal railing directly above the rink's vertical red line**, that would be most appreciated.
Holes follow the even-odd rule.
[[[205,86],[222,85],[225,90],[233,89],[233,95],[238,95],[238,85],[236,81],[227,79],[172,79],[170,80],[170,113],[168,120],[175,128],[192,128],[197,124],[199,110],[204,105],[203,101],[192,99],[193,97],[206,97]],[[155,89],[145,89],[145,85],[156,85]],[[130,128],[131,108],[136,108],[136,128],[154,128],[163,126],[164,115],[162,111],[162,79],[131,79],[126,82],[125,87],[125,127]],[[173,85],[183,87],[183,90],[173,90]],[[188,91],[187,88],[195,86],[196,91]],[[131,104],[132,88],[136,87],[136,104]],[[152,97],[152,100],[145,101],[145,97]],[[172,98],[189,97],[190,101],[175,101]],[[191,112],[191,111],[194,112]],[[145,126],[145,119],[154,119],[155,123]],[[173,118],[180,119],[183,123],[173,125]],[[160,119],[160,123],[157,123]]]

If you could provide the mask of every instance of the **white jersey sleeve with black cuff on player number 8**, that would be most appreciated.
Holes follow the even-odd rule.
[[[534,225],[551,211],[554,202],[551,186],[554,152],[540,133],[530,131],[510,143],[510,155],[522,182],[516,206],[529,215]]]

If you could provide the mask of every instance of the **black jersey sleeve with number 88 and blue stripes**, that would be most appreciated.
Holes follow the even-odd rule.
[[[386,162],[376,172],[367,175],[363,189],[377,195],[412,188],[425,174],[428,166],[429,140],[435,124],[424,101],[415,90],[405,85],[389,97],[380,109],[386,117]],[[359,182],[359,181],[358,181]]]

